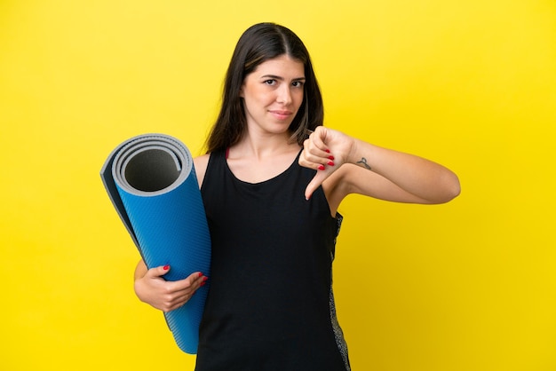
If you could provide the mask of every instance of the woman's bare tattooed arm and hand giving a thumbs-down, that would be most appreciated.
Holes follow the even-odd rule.
[[[436,162],[324,127],[306,140],[299,163],[315,170],[324,167],[307,186],[306,198],[322,184],[334,210],[349,193],[387,201],[443,203],[460,192],[456,174]]]

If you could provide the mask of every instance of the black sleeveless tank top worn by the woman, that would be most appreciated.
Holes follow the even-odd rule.
[[[234,177],[210,155],[203,202],[212,241],[197,371],[346,371],[331,268],[341,216],[330,217],[314,170],[298,159],[275,178]]]

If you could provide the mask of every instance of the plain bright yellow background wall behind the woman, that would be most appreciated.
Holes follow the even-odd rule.
[[[311,51],[327,125],[463,186],[340,209],[353,369],[556,370],[553,0],[1,1],[0,369],[193,369],[133,295],[99,169],[145,132],[200,154],[234,44],[267,20]]]

